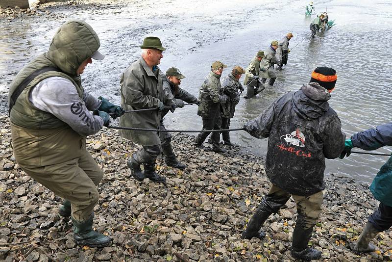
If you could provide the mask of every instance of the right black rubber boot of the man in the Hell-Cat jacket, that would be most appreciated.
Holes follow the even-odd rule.
[[[312,237],[313,227],[304,229],[300,224],[295,225],[293,232],[293,246],[291,256],[302,261],[318,260],[321,258],[321,251],[308,247],[308,242]]]

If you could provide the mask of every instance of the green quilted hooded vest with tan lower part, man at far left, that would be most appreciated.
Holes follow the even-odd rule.
[[[43,79],[62,77],[73,82],[77,93],[83,99],[84,90],[76,70],[99,46],[98,35],[91,26],[81,20],[70,20],[57,30],[48,52],[29,62],[12,81],[8,103],[15,89],[31,73],[47,66],[61,70],[49,71],[33,79],[10,111],[14,155],[22,167],[65,162],[80,156],[86,150],[86,137],[73,131],[52,114],[32,105],[29,93]]]

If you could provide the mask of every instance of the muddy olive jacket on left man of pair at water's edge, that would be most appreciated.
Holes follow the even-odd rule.
[[[221,103],[225,100],[221,89],[220,75],[210,72],[199,89],[201,105],[197,108],[197,115],[202,118],[215,118],[220,115]]]

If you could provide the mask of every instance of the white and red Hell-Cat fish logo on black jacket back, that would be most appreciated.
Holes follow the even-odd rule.
[[[280,137],[284,138],[285,144],[281,143],[276,145],[281,151],[286,151],[291,154],[295,154],[298,157],[312,157],[311,152],[304,152],[303,150],[298,150],[295,147],[305,147],[305,135],[299,130],[291,132],[290,134],[285,134]]]

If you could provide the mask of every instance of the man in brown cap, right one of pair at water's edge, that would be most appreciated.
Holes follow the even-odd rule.
[[[230,118],[234,116],[236,105],[240,102],[240,93],[238,91],[244,91],[244,87],[239,81],[244,73],[244,68],[235,66],[231,73],[221,80],[223,94],[227,96],[226,103],[222,105],[221,129],[230,128]],[[225,146],[233,146],[230,141],[229,131],[222,132],[222,138]]]

